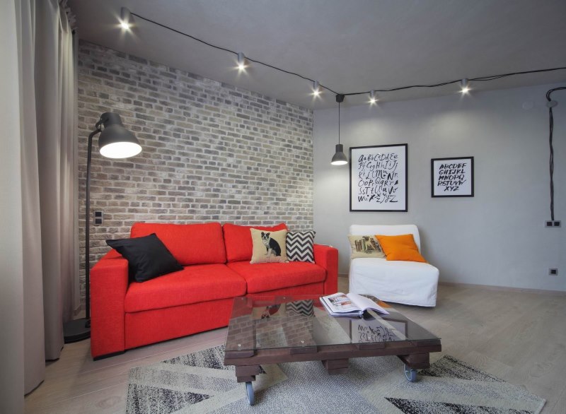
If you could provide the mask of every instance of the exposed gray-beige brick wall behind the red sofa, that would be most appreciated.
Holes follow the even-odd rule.
[[[88,42],[79,43],[81,291],[87,137],[117,112],[143,150],[127,160],[98,153],[94,139],[91,266],[107,238],[137,221],[313,226],[313,113]]]

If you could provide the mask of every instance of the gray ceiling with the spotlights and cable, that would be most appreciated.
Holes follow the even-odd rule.
[[[565,0],[69,0],[79,37],[302,107],[336,105],[328,90],[252,64],[153,23],[117,26],[120,8],[243,52],[338,93],[566,66]],[[566,70],[473,83],[474,90],[566,81]],[[456,93],[458,85],[381,93],[381,102]],[[363,105],[368,95],[348,96]]]

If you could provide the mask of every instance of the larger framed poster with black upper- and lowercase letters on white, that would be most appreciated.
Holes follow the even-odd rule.
[[[407,144],[350,147],[350,211],[407,211]]]

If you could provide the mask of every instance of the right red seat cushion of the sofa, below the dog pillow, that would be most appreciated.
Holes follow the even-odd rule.
[[[290,263],[259,263],[236,261],[228,264],[248,283],[248,293],[289,288],[322,282],[326,271],[318,264],[293,261]]]

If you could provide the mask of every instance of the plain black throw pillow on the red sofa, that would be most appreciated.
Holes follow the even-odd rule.
[[[106,240],[106,244],[127,259],[129,277],[136,282],[145,282],[157,276],[183,270],[183,266],[155,233],[132,239]]]

